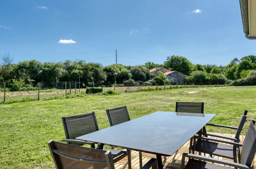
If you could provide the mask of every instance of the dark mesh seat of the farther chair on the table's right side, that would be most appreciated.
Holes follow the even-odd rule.
[[[233,146],[218,142],[197,140],[195,151],[233,159]]]

